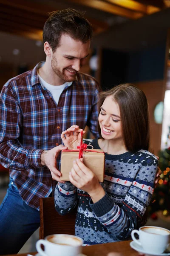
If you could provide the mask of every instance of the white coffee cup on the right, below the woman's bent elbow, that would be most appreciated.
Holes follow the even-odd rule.
[[[139,240],[135,238],[135,233],[139,235]],[[163,253],[170,243],[170,230],[163,227],[140,227],[139,230],[133,230],[131,236],[147,253]]]

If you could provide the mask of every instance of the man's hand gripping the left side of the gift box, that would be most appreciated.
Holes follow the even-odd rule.
[[[41,154],[41,164],[42,166],[47,166],[51,172],[51,176],[53,180],[57,180],[61,183],[65,183],[65,181],[60,180],[61,173],[57,169],[57,157],[63,149],[67,149],[67,147],[63,145],[59,145],[50,150],[44,150]]]

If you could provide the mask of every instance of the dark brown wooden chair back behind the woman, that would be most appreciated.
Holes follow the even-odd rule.
[[[40,239],[53,234],[74,235],[77,207],[61,216],[54,207],[54,197],[40,198]]]

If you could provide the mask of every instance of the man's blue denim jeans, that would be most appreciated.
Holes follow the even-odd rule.
[[[10,180],[0,205],[0,255],[17,254],[38,227],[40,212],[23,201]]]

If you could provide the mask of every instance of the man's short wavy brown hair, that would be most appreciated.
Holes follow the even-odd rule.
[[[63,34],[85,44],[93,37],[93,28],[82,11],[68,8],[49,13],[43,28],[44,43],[48,42],[52,51],[55,52]]]

